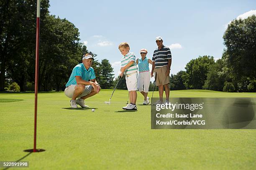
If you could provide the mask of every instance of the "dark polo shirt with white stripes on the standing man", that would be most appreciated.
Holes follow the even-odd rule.
[[[155,62],[155,68],[160,68],[168,65],[168,59],[172,59],[172,54],[169,47],[163,45],[160,50],[158,48],[154,50],[152,61]]]

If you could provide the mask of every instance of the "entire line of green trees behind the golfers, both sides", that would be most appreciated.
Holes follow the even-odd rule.
[[[113,88],[113,68],[101,62],[80,42],[79,30],[67,19],[49,14],[49,0],[41,0],[38,90],[64,90],[72,69],[90,53],[102,88]],[[219,60],[199,56],[185,71],[170,76],[170,89],[256,91],[256,16],[233,20],[223,35],[226,49]],[[33,90],[35,78],[36,1],[0,0],[0,91],[20,87]],[[15,84],[15,83],[16,84]],[[13,84],[14,83],[14,84]],[[150,82],[149,90],[153,90]],[[118,89],[126,89],[122,78]],[[157,87],[156,87],[157,90]]]

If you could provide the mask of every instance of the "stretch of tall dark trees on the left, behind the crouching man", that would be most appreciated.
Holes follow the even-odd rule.
[[[79,30],[67,19],[49,15],[49,0],[41,0],[38,90],[64,90],[72,69],[90,53],[80,42]],[[34,90],[36,1],[0,0],[0,91],[12,82],[20,91]],[[113,68],[107,59],[94,60],[102,88],[113,85]],[[15,84],[14,84],[15,85]]]

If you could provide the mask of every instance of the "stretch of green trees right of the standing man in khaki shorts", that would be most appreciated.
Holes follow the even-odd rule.
[[[185,69],[170,77],[172,90],[207,89],[256,92],[256,16],[233,20],[223,35],[226,49],[212,56],[190,60]]]

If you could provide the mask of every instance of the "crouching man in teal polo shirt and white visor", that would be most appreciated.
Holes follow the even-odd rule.
[[[92,60],[94,60],[92,55],[83,55],[82,63],[73,68],[66,84],[65,95],[71,98],[72,108],[77,108],[77,104],[88,108],[89,106],[84,105],[84,99],[100,92],[100,85],[95,80],[95,72],[91,67]]]

